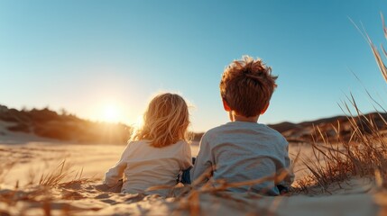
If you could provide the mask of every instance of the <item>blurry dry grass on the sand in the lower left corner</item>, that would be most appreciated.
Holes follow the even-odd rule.
[[[11,168],[12,166],[2,165],[0,167],[2,172],[0,177],[4,176],[5,171]],[[65,197],[63,195],[58,196],[55,190],[60,188],[63,191],[69,185],[86,184],[90,179],[83,178],[81,170],[76,173],[73,180],[63,182],[64,179],[74,173],[69,170],[70,166],[66,166],[66,160],[63,160],[53,170],[41,174],[37,184],[32,181],[23,187],[16,183],[14,189],[0,188],[2,189],[0,190],[0,215],[24,215],[27,211],[34,211],[38,215],[52,215],[54,211],[56,212],[54,214],[58,214],[58,211],[60,211],[60,215],[71,215],[69,204],[61,202]],[[36,176],[30,177],[35,179]],[[71,199],[74,199],[74,197],[71,197]],[[31,213],[28,213],[28,215],[31,215]]]

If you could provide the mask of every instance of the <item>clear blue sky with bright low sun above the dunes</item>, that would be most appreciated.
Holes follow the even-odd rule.
[[[387,44],[380,12],[387,1],[2,0],[0,103],[132,124],[171,91],[204,131],[227,121],[220,76],[247,54],[279,76],[264,123],[343,114],[350,93],[372,112],[363,85],[385,108],[387,85],[349,18]]]

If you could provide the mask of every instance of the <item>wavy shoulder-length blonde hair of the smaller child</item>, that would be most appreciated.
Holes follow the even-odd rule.
[[[149,139],[151,146],[162,148],[188,141],[189,109],[179,94],[158,94],[143,114],[143,126],[132,140]]]

